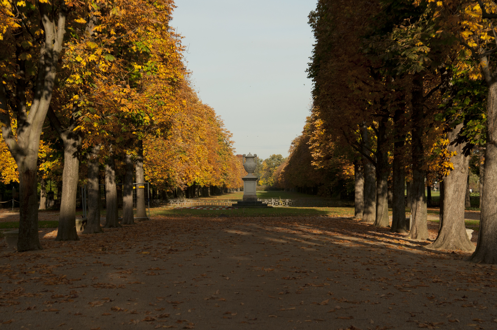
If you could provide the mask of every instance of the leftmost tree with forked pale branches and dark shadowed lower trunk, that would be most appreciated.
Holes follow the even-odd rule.
[[[73,5],[69,3],[69,6]],[[53,4],[20,1],[15,14],[11,2],[4,1],[1,6],[2,21],[7,23],[2,44],[7,47],[0,50],[0,121],[2,137],[19,171],[17,250],[27,251],[41,248],[38,239],[38,149],[64,42],[68,4],[65,0]],[[15,132],[11,126],[12,116],[17,120]]]

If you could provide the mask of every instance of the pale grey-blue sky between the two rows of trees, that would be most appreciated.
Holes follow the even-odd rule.
[[[233,134],[237,154],[288,156],[311,108],[306,69],[316,0],[175,0],[199,97]]]

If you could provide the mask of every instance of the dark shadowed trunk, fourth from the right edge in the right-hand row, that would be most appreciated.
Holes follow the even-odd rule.
[[[404,147],[404,140],[394,142],[394,164],[392,168],[393,176],[393,196],[392,196],[392,233],[407,233],[406,227],[406,204],[404,186],[406,180],[406,168],[402,163],[400,155]],[[409,189],[409,186],[408,186]],[[408,198],[409,199],[409,198]]]

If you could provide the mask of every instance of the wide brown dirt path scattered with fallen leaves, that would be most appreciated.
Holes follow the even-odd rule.
[[[79,242],[55,234],[41,233],[42,251],[0,248],[3,329],[497,326],[495,266],[347,218],[156,218]]]

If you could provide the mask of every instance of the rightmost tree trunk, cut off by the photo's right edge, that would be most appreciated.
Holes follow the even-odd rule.
[[[488,67],[488,63],[486,65]],[[482,196],[478,243],[469,261],[497,263],[497,82],[489,79],[488,76],[485,79],[489,85],[484,171],[485,188]]]

